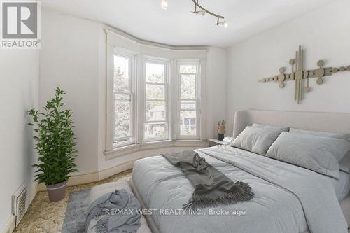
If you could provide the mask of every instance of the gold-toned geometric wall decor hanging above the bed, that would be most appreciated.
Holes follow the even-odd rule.
[[[276,82],[279,83],[279,87],[283,88],[285,86],[286,81],[295,81],[295,93],[294,99],[297,101],[297,104],[300,104],[302,101],[302,94],[311,91],[309,85],[310,78],[317,78],[316,83],[321,85],[323,83],[324,76],[331,76],[333,73],[342,72],[342,71],[350,71],[349,66],[341,66],[337,67],[325,67],[323,65],[325,62],[323,60],[319,60],[317,62],[318,69],[312,70],[304,70],[304,50],[302,46],[299,46],[299,50],[295,52],[295,59],[290,59],[290,66],[292,66],[291,73],[285,73],[286,69],[281,67],[279,69],[279,74],[271,77],[271,78],[262,78],[258,80],[258,82],[266,83],[266,82]],[[303,81],[306,81],[306,85],[304,85]]]

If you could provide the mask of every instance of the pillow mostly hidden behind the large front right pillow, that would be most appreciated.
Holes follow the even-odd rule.
[[[289,132],[295,133],[295,134],[311,134],[311,135],[316,135],[316,136],[326,136],[329,138],[344,139],[346,141],[349,141],[349,143],[350,143],[350,134],[318,132],[318,131],[295,129],[295,128],[290,128]],[[342,160],[339,161],[339,165],[340,165],[340,170],[345,171],[346,173],[350,173],[350,151],[348,153],[346,153],[346,155],[343,157]]]

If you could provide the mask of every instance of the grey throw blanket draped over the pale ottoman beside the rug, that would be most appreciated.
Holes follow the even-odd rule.
[[[141,204],[126,190],[115,190],[97,198],[87,211],[86,227],[95,219],[92,227],[98,233],[135,233],[140,227]]]

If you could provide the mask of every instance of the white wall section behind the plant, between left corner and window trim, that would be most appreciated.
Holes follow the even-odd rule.
[[[99,118],[99,34],[101,24],[43,10],[40,105],[55,87],[66,92],[73,111],[79,171],[96,171]]]

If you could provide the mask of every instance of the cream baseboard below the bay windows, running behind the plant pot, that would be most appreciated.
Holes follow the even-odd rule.
[[[81,185],[84,183],[92,183],[96,181],[104,180],[109,176],[113,176],[127,169],[131,169],[134,164],[134,160],[130,162],[125,162],[114,167],[109,167],[107,169],[102,169],[100,171],[86,171],[79,174],[72,174],[69,178],[68,186]],[[45,184],[38,184],[38,191],[46,190]]]

